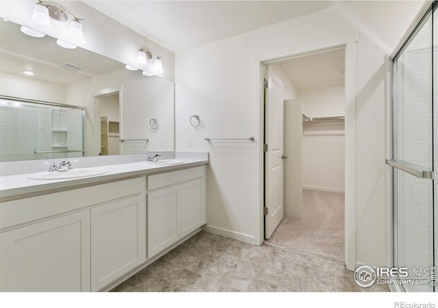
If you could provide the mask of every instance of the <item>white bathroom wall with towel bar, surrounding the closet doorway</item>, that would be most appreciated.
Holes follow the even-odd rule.
[[[207,229],[257,244],[261,214],[259,61],[357,39],[355,83],[356,262],[387,265],[385,55],[420,1],[351,1],[247,34],[177,53],[177,151],[209,151]],[[394,18],[398,16],[398,18]],[[218,64],[218,55],[226,64]],[[196,61],[195,61],[196,60]],[[198,114],[201,129],[188,119]],[[255,136],[207,142],[205,136]],[[185,146],[185,138],[192,146]]]

